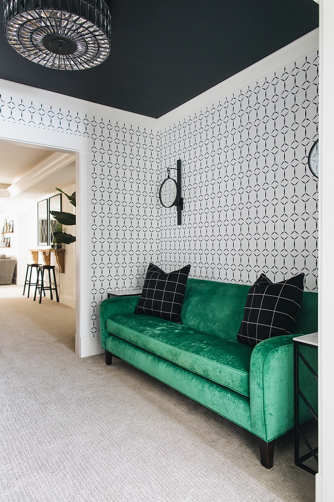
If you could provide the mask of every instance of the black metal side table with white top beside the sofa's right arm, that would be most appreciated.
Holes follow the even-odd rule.
[[[318,381],[318,375],[312,368],[312,366],[309,364],[309,362],[306,360],[305,356],[302,354],[300,351],[299,346],[300,345],[307,345],[309,347],[314,347],[314,350],[318,350],[318,333],[311,333],[309,335],[302,335],[294,338],[294,348],[295,348],[295,464],[298,465],[298,467],[304,469],[304,471],[307,471],[311,474],[317,474],[317,471],[314,469],[308,467],[308,465],[304,465],[304,462],[308,460],[309,458],[313,457],[315,461],[318,463],[318,447],[312,448],[310,445],[309,441],[307,440],[305,434],[301,431],[300,428],[300,416],[299,416],[299,400],[300,398],[304,401],[305,405],[307,408],[310,410],[312,413],[313,417],[316,419],[318,423],[318,415],[315,412],[315,410],[312,408],[311,404],[305,397],[303,393],[303,389],[300,388],[299,386],[299,367],[300,367],[300,362],[306,366],[306,368],[311,372],[313,377]],[[308,453],[306,453],[303,456],[299,456],[299,445],[300,445],[300,438],[304,441],[308,448]]]

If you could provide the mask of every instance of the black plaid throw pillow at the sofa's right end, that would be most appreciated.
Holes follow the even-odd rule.
[[[303,292],[304,274],[276,283],[261,274],[248,292],[238,342],[255,347],[267,338],[291,335]]]

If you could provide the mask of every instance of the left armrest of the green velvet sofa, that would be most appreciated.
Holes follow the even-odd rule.
[[[114,315],[133,314],[139,302],[138,296],[120,296],[108,298],[100,304],[100,335],[102,348],[106,348],[107,319]]]

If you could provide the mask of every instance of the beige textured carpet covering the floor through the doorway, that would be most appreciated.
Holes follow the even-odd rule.
[[[127,363],[79,359],[73,309],[2,288],[1,502],[314,500],[293,434],[264,469],[252,434]]]

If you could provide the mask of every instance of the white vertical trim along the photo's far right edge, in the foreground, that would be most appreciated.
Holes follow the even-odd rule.
[[[334,2],[321,0],[319,47],[319,473],[316,502],[331,502],[334,493]]]

